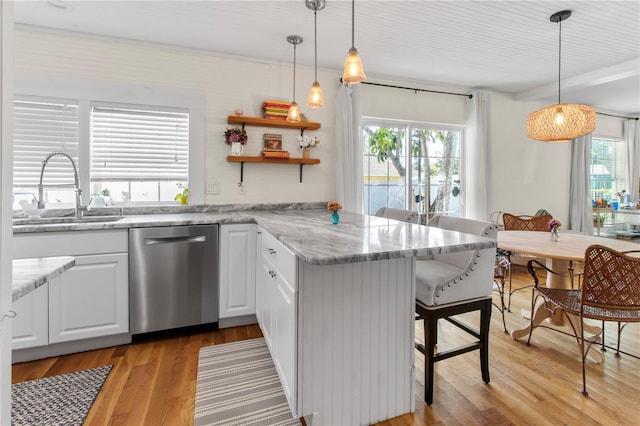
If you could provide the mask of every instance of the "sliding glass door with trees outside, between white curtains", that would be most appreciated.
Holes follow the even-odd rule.
[[[461,215],[461,127],[365,119],[362,142],[366,214]]]

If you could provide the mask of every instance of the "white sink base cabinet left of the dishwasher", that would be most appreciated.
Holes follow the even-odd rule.
[[[24,314],[16,311],[13,349],[128,334],[127,230],[16,234],[13,241],[15,259],[76,259],[75,266],[43,286],[46,296],[36,291],[16,302],[14,308]],[[46,341],[27,338],[29,324],[41,322],[36,317],[43,313]]]

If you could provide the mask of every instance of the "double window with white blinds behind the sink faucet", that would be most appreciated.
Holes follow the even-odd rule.
[[[14,129],[14,209],[38,197],[42,161],[54,151],[69,153],[84,173],[85,203],[91,194],[109,194],[117,203],[173,203],[189,180],[186,108],[16,96]],[[88,146],[81,146],[80,134]],[[74,205],[67,158],[51,158],[43,184],[49,208]]]

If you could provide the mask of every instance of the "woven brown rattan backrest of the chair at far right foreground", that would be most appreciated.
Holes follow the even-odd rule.
[[[585,251],[582,305],[640,311],[640,258],[598,244]]]

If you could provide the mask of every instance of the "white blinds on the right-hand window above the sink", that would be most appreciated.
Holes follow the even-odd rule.
[[[91,181],[187,181],[189,114],[155,107],[91,108]]]

